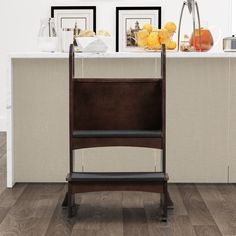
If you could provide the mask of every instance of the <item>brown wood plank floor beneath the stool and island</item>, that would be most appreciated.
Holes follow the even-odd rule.
[[[0,235],[219,236],[236,235],[236,185],[172,184],[175,209],[158,221],[159,196],[101,192],[77,195],[67,219],[64,184],[17,184],[6,189],[6,135],[0,133]]]

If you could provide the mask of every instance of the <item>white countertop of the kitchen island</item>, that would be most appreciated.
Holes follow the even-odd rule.
[[[76,58],[158,58],[160,52],[108,52],[108,53],[76,53]],[[11,59],[66,59],[68,53],[55,52],[12,52]],[[236,58],[236,52],[167,52],[167,58]]]

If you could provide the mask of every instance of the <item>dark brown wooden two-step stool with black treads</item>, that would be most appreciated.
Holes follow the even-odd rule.
[[[70,172],[67,176],[68,193],[64,201],[64,205],[68,207],[68,216],[75,214],[75,193],[146,191],[161,194],[162,220],[166,221],[167,207],[172,205],[172,202],[168,195],[166,173],[165,45],[162,46],[159,79],[78,79],[74,77],[74,71],[74,47],[71,45],[69,55]],[[122,100],[119,97],[120,93],[123,95]],[[138,94],[140,96],[137,96]],[[129,109],[124,108],[127,103],[131,104]],[[162,171],[95,174],[74,172],[74,150],[104,146],[162,149]]]

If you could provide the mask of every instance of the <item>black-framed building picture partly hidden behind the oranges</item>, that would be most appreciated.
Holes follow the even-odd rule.
[[[117,7],[116,51],[141,51],[137,33],[146,23],[161,28],[161,7]]]

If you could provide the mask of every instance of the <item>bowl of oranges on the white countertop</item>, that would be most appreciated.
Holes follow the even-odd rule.
[[[165,44],[167,50],[175,50],[177,47],[176,41],[173,40],[175,32],[176,25],[173,22],[166,23],[162,29],[145,24],[137,34],[138,46],[147,51],[159,51],[161,45]]]

